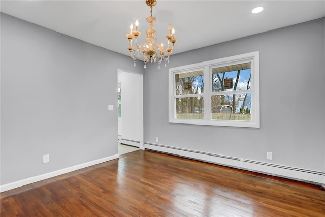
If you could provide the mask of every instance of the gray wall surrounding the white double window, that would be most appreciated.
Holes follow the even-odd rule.
[[[171,56],[145,72],[145,143],[325,171],[324,18]],[[217,37],[217,35],[216,35]],[[181,40],[178,43],[182,43]],[[177,49],[177,44],[175,45]],[[259,51],[261,128],[168,123],[168,68]],[[273,160],[266,160],[266,152]]]

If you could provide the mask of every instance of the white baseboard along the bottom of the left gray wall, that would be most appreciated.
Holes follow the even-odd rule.
[[[100,163],[103,163],[103,162],[106,162],[106,161],[111,161],[111,160],[114,160],[114,159],[117,159],[117,158],[119,158],[119,155],[115,154],[113,156],[109,156],[109,157],[106,157],[106,158],[101,158],[101,159],[98,159],[98,160],[86,162],[86,163],[83,163],[83,164],[79,164],[79,165],[76,165],[76,166],[64,168],[64,169],[61,169],[61,170],[56,170],[56,171],[53,171],[53,172],[49,172],[49,173],[45,173],[45,174],[42,174],[42,175],[22,179],[22,180],[19,180],[19,181],[8,183],[8,184],[3,184],[3,185],[0,185],[0,192],[5,192],[5,191],[11,190],[11,189],[21,187],[21,186],[26,185],[26,184],[34,183],[34,182],[37,182],[37,181],[42,181],[44,179],[52,178],[54,176],[62,175],[64,173],[69,173],[69,172],[72,172],[72,171],[75,171],[75,170],[79,170],[79,169],[89,167],[89,166],[92,166],[92,165],[95,165],[95,164],[100,164]]]

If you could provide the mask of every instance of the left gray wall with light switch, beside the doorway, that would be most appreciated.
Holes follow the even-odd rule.
[[[117,154],[117,69],[137,65],[1,13],[1,185]]]

